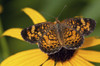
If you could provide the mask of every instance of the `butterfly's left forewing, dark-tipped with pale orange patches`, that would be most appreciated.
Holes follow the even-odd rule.
[[[31,43],[37,43],[40,40],[40,37],[42,37],[43,33],[50,29],[51,24],[51,22],[35,24],[29,28],[23,29],[21,35],[24,40]]]

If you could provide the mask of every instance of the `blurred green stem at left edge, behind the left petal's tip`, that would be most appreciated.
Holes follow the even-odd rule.
[[[2,28],[1,17],[0,17],[0,36],[2,35],[2,33],[3,33],[3,28]],[[9,49],[5,37],[0,38],[0,45],[2,49],[2,57],[3,59],[5,59],[9,56]]]

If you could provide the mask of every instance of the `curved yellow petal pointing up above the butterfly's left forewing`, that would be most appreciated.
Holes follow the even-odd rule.
[[[22,9],[34,22],[34,24],[46,22],[46,19],[36,10],[32,8],[24,8]]]

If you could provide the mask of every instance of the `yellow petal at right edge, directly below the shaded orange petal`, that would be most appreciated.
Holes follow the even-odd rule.
[[[100,63],[100,52],[91,50],[79,50],[77,54],[88,61]]]

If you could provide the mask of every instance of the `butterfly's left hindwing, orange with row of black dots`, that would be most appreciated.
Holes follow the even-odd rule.
[[[39,48],[48,54],[53,54],[61,49],[61,44],[57,38],[55,27],[48,30],[39,41]]]

